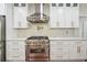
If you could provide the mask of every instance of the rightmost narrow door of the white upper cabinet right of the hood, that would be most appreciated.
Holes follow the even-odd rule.
[[[74,28],[79,28],[79,6],[72,8],[72,25]]]

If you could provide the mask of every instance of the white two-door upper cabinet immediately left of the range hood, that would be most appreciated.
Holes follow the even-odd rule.
[[[22,4],[18,4],[13,7],[13,21],[14,26],[17,29],[26,29],[28,28],[28,4],[22,7]]]

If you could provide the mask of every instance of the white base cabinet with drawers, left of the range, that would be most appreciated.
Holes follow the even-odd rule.
[[[25,42],[22,40],[7,41],[7,61],[23,62],[25,61]]]

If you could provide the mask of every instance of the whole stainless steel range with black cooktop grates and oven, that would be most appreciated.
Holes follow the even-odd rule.
[[[50,61],[50,41],[47,36],[31,36],[26,40],[25,61]]]

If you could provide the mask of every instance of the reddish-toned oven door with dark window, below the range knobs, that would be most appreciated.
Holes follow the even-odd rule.
[[[26,53],[26,61],[48,61],[48,51],[45,47],[32,47]]]

